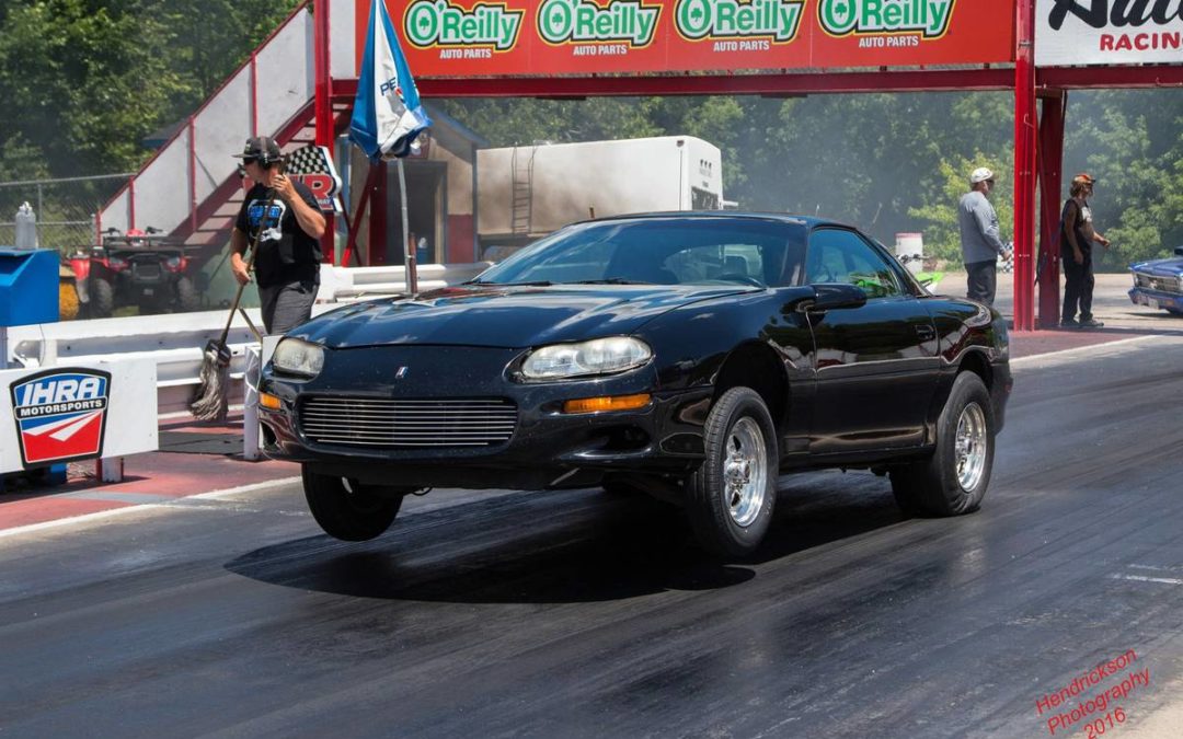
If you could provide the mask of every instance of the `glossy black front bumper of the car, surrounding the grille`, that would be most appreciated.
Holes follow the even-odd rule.
[[[703,459],[711,388],[653,393],[652,367],[568,382],[518,383],[504,368],[516,352],[474,348],[369,348],[332,351],[311,381],[269,368],[260,390],[280,408],[260,408],[263,450],[324,474],[409,487],[521,488],[594,485],[616,472],[685,474]],[[395,380],[406,368],[405,377]],[[635,410],[565,414],[564,401],[651,393]],[[513,432],[489,446],[411,447],[323,443],[306,433],[308,398],[504,398],[516,406]],[[343,419],[344,423],[345,420]]]

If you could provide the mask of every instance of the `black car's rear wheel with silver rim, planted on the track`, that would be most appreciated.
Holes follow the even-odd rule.
[[[982,504],[994,467],[994,407],[982,378],[962,372],[937,422],[937,448],[922,462],[891,472],[905,513],[961,516]]]

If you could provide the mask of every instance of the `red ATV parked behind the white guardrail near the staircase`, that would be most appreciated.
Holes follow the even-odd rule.
[[[185,245],[157,228],[124,233],[108,228],[90,254],[85,280],[90,315],[106,318],[121,305],[138,305],[141,313],[195,311],[200,297],[188,267]]]

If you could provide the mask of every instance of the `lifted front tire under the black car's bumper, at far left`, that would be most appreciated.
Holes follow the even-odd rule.
[[[343,542],[382,536],[402,507],[409,488],[361,485],[356,480],[318,474],[303,466],[304,498],[327,534]]]

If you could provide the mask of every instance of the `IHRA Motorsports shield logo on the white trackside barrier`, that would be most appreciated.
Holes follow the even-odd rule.
[[[12,410],[26,467],[101,456],[110,372],[52,369],[12,385]]]

